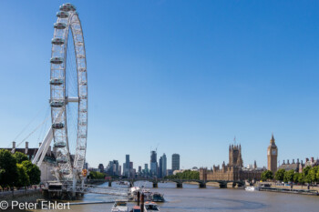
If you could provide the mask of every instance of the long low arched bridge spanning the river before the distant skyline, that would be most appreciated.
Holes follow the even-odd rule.
[[[128,182],[129,187],[134,187],[134,183],[138,181],[149,181],[153,184],[153,187],[159,187],[159,183],[173,182],[176,183],[176,187],[183,187],[183,183],[198,183],[200,188],[205,188],[207,183],[218,183],[221,188],[227,188],[227,184],[232,183],[232,187],[244,186],[244,181],[229,181],[229,180],[200,180],[200,179],[164,179],[164,178],[114,178],[114,179],[90,179],[87,183],[108,182],[108,187],[112,187],[112,182]]]

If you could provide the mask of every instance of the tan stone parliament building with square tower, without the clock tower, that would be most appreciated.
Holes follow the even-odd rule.
[[[255,166],[250,170],[243,170],[242,166],[242,146],[229,147],[229,163],[225,162],[220,166],[213,166],[212,170],[207,168],[200,169],[200,179],[207,180],[224,180],[224,181],[243,181],[243,180],[260,180],[262,169]]]

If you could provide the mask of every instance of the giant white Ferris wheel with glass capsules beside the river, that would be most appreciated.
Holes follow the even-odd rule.
[[[54,24],[50,69],[52,138],[59,180],[81,177],[87,150],[87,60],[76,6],[64,4]]]

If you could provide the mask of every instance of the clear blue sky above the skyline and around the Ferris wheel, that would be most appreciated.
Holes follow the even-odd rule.
[[[48,107],[63,3],[0,1],[1,146]],[[272,132],[279,160],[318,156],[318,1],[72,3],[87,49],[91,166],[129,154],[137,167],[159,144],[168,167],[173,153],[181,167],[211,167],[228,161],[234,136],[245,165],[265,166]]]

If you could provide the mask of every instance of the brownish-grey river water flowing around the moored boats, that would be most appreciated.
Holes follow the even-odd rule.
[[[149,187],[151,191],[164,194],[165,203],[160,203],[161,212],[206,212],[206,211],[319,211],[319,197],[273,193],[265,191],[249,192],[242,189],[207,187],[175,183],[159,183],[159,188],[151,188],[150,183],[135,183],[135,186]],[[108,187],[108,184],[102,185]],[[113,183],[112,187],[118,187]],[[124,188],[123,188],[124,189]],[[83,202],[108,201],[118,197],[87,194]],[[130,204],[130,206],[133,206]],[[112,204],[71,206],[72,212],[109,212]],[[41,211],[41,210],[36,210]],[[43,210],[49,211],[49,210]]]

